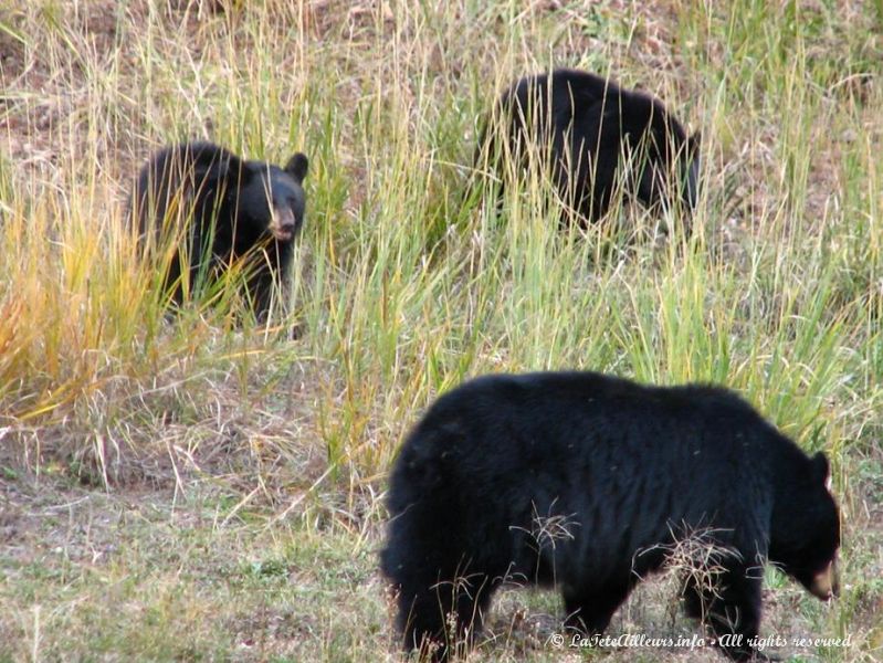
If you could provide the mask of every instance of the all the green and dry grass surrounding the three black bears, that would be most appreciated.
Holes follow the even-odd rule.
[[[463,379],[543,368],[724,383],[827,451],[843,596],[774,577],[764,629],[880,656],[879,2],[212,4],[0,9],[0,661],[395,660],[398,444]],[[701,130],[692,234],[629,206],[561,232],[537,180],[475,194],[482,114],[550,65]],[[239,325],[234,278],[164,316],[124,201],[186,137],[308,155],[288,319]],[[614,629],[696,632],[661,585]],[[546,660],[559,613],[506,594],[476,660]]]

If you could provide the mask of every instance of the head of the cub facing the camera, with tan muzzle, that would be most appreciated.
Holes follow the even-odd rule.
[[[304,224],[303,181],[309,162],[296,152],[285,168],[248,161],[240,175],[236,215],[248,227],[261,228],[282,243],[294,240]]]

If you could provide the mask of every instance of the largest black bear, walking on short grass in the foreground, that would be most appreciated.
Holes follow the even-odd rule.
[[[822,599],[838,591],[828,477],[824,454],[721,388],[590,372],[469,381],[429,409],[390,477],[381,568],[404,648],[464,651],[504,582],[556,587],[566,625],[601,633],[701,534],[716,572],[684,575],[686,613],[750,659],[766,561]]]

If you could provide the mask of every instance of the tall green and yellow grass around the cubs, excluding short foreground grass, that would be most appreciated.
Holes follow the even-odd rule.
[[[0,9],[3,462],[180,491],[232,466],[236,502],[255,490],[301,513],[297,485],[351,514],[439,392],[584,368],[743,392],[831,453],[858,508],[853,491],[876,480],[856,467],[879,462],[883,429],[881,13],[13,1]],[[500,207],[471,188],[482,114],[551,65],[640,84],[701,129],[692,233],[628,204],[561,232],[537,179]],[[147,156],[185,138],[309,156],[288,319],[240,324],[233,283],[220,305],[165,315],[161,265],[136,260],[124,202]],[[848,539],[847,572],[865,555]]]

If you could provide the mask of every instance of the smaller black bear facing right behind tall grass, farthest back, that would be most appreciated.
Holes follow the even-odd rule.
[[[479,146],[477,166],[484,167],[488,155],[505,182],[506,154],[518,170],[536,159],[566,214],[575,212],[585,225],[608,211],[620,182],[649,208],[692,210],[697,152],[697,138],[687,137],[659,99],[596,74],[556,70],[524,77],[502,95]]]

